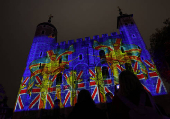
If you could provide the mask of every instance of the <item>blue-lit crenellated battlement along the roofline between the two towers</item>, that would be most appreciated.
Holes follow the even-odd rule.
[[[100,40],[103,39],[103,38],[108,38],[108,37],[112,38],[112,37],[116,37],[116,36],[119,36],[119,35],[121,35],[121,34],[117,34],[117,32],[113,32],[113,33],[110,33],[110,34],[102,34],[102,37],[99,37],[99,35],[95,35],[95,36],[93,36],[92,39],[90,37],[85,37],[84,39],[78,38],[76,40],[72,39],[72,40],[68,40],[68,43],[66,41],[56,43],[55,46],[71,45],[71,44],[74,44],[74,43],[80,43],[82,41],[90,42],[90,41],[93,41],[93,40],[97,40],[97,41],[100,42]]]

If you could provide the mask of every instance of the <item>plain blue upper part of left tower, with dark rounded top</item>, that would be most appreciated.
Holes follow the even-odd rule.
[[[57,29],[51,24],[52,17],[53,16],[50,15],[48,22],[37,25],[30,53],[28,55],[26,69],[24,71],[24,76],[26,77],[30,76],[30,63],[46,56],[46,51],[50,50],[52,46],[57,43]]]

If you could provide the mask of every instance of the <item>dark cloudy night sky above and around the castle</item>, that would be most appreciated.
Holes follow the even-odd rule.
[[[170,17],[170,0],[2,0],[0,61],[2,84],[13,108],[36,26],[48,20],[58,29],[58,42],[118,32],[117,16],[133,14],[149,48],[149,37]]]

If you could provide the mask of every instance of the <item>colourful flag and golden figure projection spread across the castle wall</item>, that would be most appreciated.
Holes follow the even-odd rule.
[[[153,61],[141,59],[139,46],[124,44],[121,38],[89,43],[49,50],[45,57],[32,61],[30,77],[22,79],[16,111],[25,105],[30,110],[51,109],[55,99],[61,100],[62,108],[74,106],[81,89],[89,90],[95,103],[106,102],[105,94],[114,96],[123,70],[134,72],[152,95],[166,93]]]

